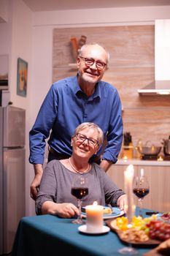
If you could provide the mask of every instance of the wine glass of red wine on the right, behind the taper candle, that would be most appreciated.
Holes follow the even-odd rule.
[[[150,192],[150,185],[147,176],[136,176],[134,178],[133,192],[138,197],[139,202],[139,216],[142,217],[142,201],[144,197]]]

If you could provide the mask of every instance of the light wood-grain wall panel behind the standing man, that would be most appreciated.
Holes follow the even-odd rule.
[[[131,132],[134,145],[152,140],[160,144],[170,135],[170,97],[139,96],[154,80],[154,26],[108,26],[53,30],[53,81],[76,75],[70,39],[87,37],[110,53],[103,80],[114,85],[123,104],[124,132]]]

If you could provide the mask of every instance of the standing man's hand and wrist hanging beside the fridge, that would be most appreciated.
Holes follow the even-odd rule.
[[[31,183],[30,195],[32,199],[36,200],[36,196],[39,191],[39,185],[42,179],[42,172],[43,172],[42,165],[40,164],[34,165],[34,172],[35,172],[35,176],[34,176],[34,180]]]

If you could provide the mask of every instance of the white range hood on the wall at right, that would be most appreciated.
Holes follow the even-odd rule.
[[[155,20],[155,80],[138,93],[170,96],[170,20]]]

